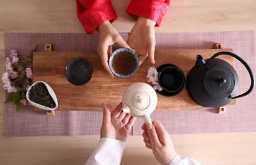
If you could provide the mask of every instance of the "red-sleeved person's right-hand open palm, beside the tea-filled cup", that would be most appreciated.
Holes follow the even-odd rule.
[[[156,22],[145,17],[139,17],[131,30],[127,43],[139,56],[140,64],[149,57],[149,62],[154,64],[154,47],[156,39],[154,36],[154,25]]]

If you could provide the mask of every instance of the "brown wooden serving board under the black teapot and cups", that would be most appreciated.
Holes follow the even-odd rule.
[[[158,67],[164,63],[177,65],[186,77],[189,70],[195,65],[197,55],[204,59],[210,58],[219,51],[230,51],[232,49],[179,49],[155,51],[155,65]],[[64,76],[66,63],[72,58],[84,57],[93,65],[93,77],[87,84],[75,86],[70,84]],[[219,56],[234,67],[232,56]],[[93,110],[101,111],[101,104],[106,103],[113,110],[122,100],[123,91],[133,82],[147,82],[146,75],[149,67],[153,65],[146,60],[138,72],[127,79],[110,77],[102,67],[100,56],[96,52],[80,51],[47,51],[35,52],[33,58],[33,81],[45,81],[54,89],[59,107],[57,110]],[[151,85],[151,84],[150,84]],[[233,100],[229,105],[234,105]],[[188,93],[186,86],[181,93],[175,96],[162,96],[158,93],[158,105],[155,111],[181,111],[202,109],[194,103]]]

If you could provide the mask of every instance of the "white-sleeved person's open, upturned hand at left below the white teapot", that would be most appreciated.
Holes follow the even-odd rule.
[[[102,129],[100,129],[100,138],[114,138],[126,142],[126,138],[136,117],[121,112],[122,103],[119,103],[111,114],[105,103],[102,103],[102,109],[103,121]]]

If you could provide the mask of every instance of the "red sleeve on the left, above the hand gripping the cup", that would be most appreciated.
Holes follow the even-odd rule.
[[[98,32],[97,27],[106,20],[117,19],[110,0],[77,0],[77,17],[87,34]]]

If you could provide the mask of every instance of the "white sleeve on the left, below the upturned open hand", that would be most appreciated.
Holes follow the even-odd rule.
[[[114,138],[101,138],[86,165],[93,164],[120,164],[125,143]]]

